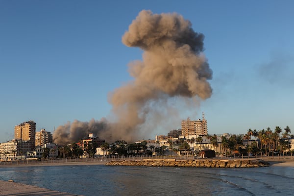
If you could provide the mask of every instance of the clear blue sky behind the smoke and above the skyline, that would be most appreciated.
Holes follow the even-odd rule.
[[[107,118],[109,93],[133,79],[127,65],[142,58],[122,36],[144,9],[190,20],[213,71],[211,98],[149,138],[202,112],[209,134],[294,132],[293,8],[293,0],[0,0],[0,142],[28,120],[53,132]]]

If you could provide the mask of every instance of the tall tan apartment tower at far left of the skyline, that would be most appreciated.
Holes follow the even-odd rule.
[[[31,150],[35,148],[36,123],[27,121],[14,127],[14,139],[28,141],[31,143]]]

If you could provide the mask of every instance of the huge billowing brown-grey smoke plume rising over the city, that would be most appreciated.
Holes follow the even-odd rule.
[[[162,118],[156,108],[165,104],[156,103],[167,103],[174,97],[209,98],[212,89],[207,80],[212,78],[212,71],[201,53],[203,39],[201,33],[192,29],[190,21],[176,13],[141,11],[122,41],[128,47],[143,49],[143,60],[129,64],[134,80],[109,95],[116,122],[74,121],[55,130],[54,142],[78,141],[88,133],[133,141],[144,135],[145,124],[154,124],[146,122],[154,119],[152,115]],[[158,118],[156,121],[161,122]]]

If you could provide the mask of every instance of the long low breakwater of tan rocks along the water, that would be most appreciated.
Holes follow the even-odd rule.
[[[270,163],[261,159],[143,159],[143,160],[113,160],[107,166],[147,166],[147,167],[195,167],[195,168],[258,168],[268,167]]]

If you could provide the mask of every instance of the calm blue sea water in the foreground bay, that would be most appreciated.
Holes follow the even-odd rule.
[[[294,168],[43,166],[0,168],[0,180],[84,196],[293,196]]]

